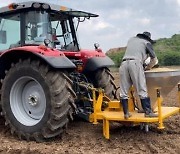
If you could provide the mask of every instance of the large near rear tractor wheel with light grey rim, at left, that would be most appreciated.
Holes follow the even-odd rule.
[[[19,61],[2,81],[2,114],[12,134],[41,142],[61,136],[72,118],[70,79],[39,61]]]

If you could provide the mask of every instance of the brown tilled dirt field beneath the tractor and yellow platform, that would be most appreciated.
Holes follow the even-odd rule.
[[[113,72],[118,84],[118,73]],[[167,96],[164,104],[177,106],[177,87]],[[74,121],[62,138],[51,142],[35,143],[20,141],[11,136],[0,119],[0,153],[11,154],[60,154],[60,153],[168,153],[180,154],[180,115],[164,122],[166,129],[159,132],[157,124],[150,126],[145,133],[139,126],[125,127],[119,123],[111,124],[111,139],[102,135],[102,124],[92,125],[84,121]]]

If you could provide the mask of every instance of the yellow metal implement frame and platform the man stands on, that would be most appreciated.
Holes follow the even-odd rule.
[[[130,99],[128,100],[129,111],[132,114],[132,117],[129,119],[124,119],[124,114],[122,106],[118,100],[111,100],[108,98],[103,89],[91,88],[93,93],[93,113],[89,117],[89,121],[93,124],[98,124],[99,120],[103,121],[103,135],[106,139],[110,138],[109,135],[109,123],[110,121],[142,124],[142,123],[159,123],[158,129],[164,129],[163,120],[174,114],[180,113],[180,84],[178,84],[178,102],[179,107],[165,107],[161,106],[162,98],[160,95],[160,88],[156,89],[157,92],[157,106],[155,112],[158,113],[158,117],[147,118],[144,117],[144,113],[138,113],[135,109],[133,93],[130,92]],[[133,90],[133,89],[131,89]],[[107,104],[105,109],[102,109],[102,104]]]

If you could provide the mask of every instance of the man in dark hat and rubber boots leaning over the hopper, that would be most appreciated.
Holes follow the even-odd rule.
[[[128,119],[131,114],[128,112],[128,91],[133,85],[141,99],[141,105],[145,112],[145,117],[157,117],[151,110],[150,98],[147,93],[144,70],[151,69],[158,63],[157,57],[152,47],[151,33],[144,32],[132,37],[127,44],[126,52],[120,66],[120,99],[123,106],[124,118]],[[150,57],[150,63],[145,64],[145,60]]]

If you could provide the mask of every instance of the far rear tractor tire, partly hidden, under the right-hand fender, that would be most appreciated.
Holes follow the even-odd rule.
[[[114,77],[108,68],[96,70],[90,78],[96,88],[104,89],[109,98],[116,98],[116,85],[114,83]]]

